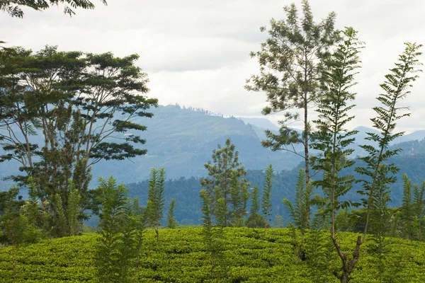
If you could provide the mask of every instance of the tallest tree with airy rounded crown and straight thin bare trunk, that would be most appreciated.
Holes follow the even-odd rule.
[[[322,96],[320,70],[329,48],[338,38],[334,30],[336,14],[331,12],[320,23],[314,23],[307,0],[302,0],[303,18],[298,18],[295,4],[285,6],[284,11],[285,20],[271,19],[270,37],[261,44],[261,51],[251,52],[251,57],[259,60],[260,74],[251,76],[245,88],[266,93],[269,105],[263,108],[263,115],[285,111],[279,133],[266,130],[267,139],[262,144],[272,151],[284,150],[302,157],[307,185],[311,175],[309,109]],[[261,31],[266,31],[266,28],[261,28]],[[301,110],[302,114],[294,110]],[[303,131],[290,129],[289,121],[301,121]],[[303,153],[295,148],[295,144],[302,144]],[[310,223],[310,203],[305,205]]]

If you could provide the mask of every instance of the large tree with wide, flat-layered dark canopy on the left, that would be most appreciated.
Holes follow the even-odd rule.
[[[0,50],[0,162],[15,160],[25,175],[12,176],[33,187],[53,215],[68,207],[72,190],[81,197],[81,212],[90,209],[90,168],[101,160],[124,160],[146,154],[135,133],[145,130],[137,117],[157,100],[148,91],[146,74],[135,67],[136,54],[58,52],[45,47],[33,54],[22,48]],[[128,133],[130,132],[130,133]],[[42,141],[35,142],[38,134]],[[112,142],[116,138],[123,142]],[[79,217],[86,217],[84,214]]]

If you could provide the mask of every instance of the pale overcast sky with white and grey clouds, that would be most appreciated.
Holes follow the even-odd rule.
[[[263,117],[263,93],[249,93],[244,83],[259,72],[249,52],[259,50],[266,33],[259,28],[271,18],[285,17],[288,0],[94,0],[96,9],[64,16],[62,8],[24,9],[11,18],[0,12],[0,40],[40,50],[140,54],[137,64],[149,74],[149,96],[162,105],[201,107],[224,115]],[[295,3],[300,6],[300,0]],[[370,107],[380,93],[379,83],[404,50],[403,42],[425,44],[425,1],[310,0],[316,21],[337,13],[337,28],[353,26],[366,43],[358,74],[356,120],[351,127],[370,126]],[[425,51],[425,48],[424,48]],[[425,56],[422,57],[425,61]],[[403,101],[412,116],[399,129],[425,129],[425,74]],[[280,115],[271,115],[272,122]],[[296,125],[295,125],[296,126]]]

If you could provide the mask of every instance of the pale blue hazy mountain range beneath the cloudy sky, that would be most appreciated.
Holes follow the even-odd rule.
[[[192,109],[192,108],[191,108]],[[227,137],[232,139],[239,151],[239,159],[249,170],[264,170],[269,163],[276,171],[289,170],[297,166],[302,158],[285,151],[271,151],[261,146],[265,138],[264,129],[277,131],[278,127],[266,118],[236,118],[211,115],[205,110],[191,110],[176,105],[160,106],[152,109],[154,117],[137,118],[147,126],[142,137],[147,139],[145,149],[148,154],[132,161],[101,161],[93,168],[94,180],[99,176],[113,175],[118,181],[135,183],[149,178],[151,168],[165,167],[167,178],[205,176],[204,163],[210,161],[212,150],[217,144],[225,144]],[[375,132],[367,127],[357,127],[354,156],[362,156],[358,144],[365,143],[365,132]],[[40,136],[39,136],[40,137]],[[35,136],[37,138],[37,136]],[[412,154],[415,141],[418,154],[425,147],[425,130],[404,135],[394,143],[404,142],[402,155]],[[415,144],[414,143],[414,144]],[[301,146],[297,149],[302,150]],[[18,173],[17,163],[0,163],[0,177]]]

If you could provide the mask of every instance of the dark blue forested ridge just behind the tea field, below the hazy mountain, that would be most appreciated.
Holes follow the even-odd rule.
[[[391,159],[391,162],[399,165],[400,171],[397,173],[397,182],[391,186],[391,200],[390,207],[399,207],[403,200],[403,183],[402,174],[406,173],[413,183],[420,184],[424,180],[425,156],[397,156]],[[358,161],[361,165],[361,161]],[[276,214],[280,214],[286,221],[290,221],[289,214],[282,205],[282,200],[287,198],[291,202],[295,200],[295,183],[297,182],[296,176],[301,165],[289,171],[276,172],[273,178],[273,219]],[[251,182],[251,187],[258,185],[260,188],[264,185],[264,178],[266,172],[264,170],[248,170],[246,179]],[[353,174],[356,178],[360,176],[354,172],[346,171],[346,173]],[[314,178],[321,178],[322,174],[317,173]],[[131,197],[140,197],[142,202],[147,202],[147,194],[149,191],[149,180],[143,180],[137,183],[125,183],[128,187],[129,195]],[[166,207],[168,207],[171,198],[176,199],[176,219],[181,224],[200,224],[202,213],[200,211],[200,202],[198,200],[199,191],[201,190],[200,178],[177,178],[166,180]],[[353,190],[349,192],[345,199],[359,201],[360,196],[356,190],[361,190],[361,185],[356,184]],[[321,193],[315,190],[315,193]],[[249,207],[249,204],[248,204]],[[95,223],[95,222],[92,222]]]

